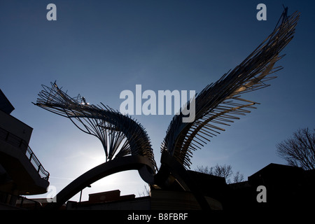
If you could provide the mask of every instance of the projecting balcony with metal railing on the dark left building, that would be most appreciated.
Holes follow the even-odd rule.
[[[0,190],[14,195],[47,192],[49,173],[26,141],[0,127]]]

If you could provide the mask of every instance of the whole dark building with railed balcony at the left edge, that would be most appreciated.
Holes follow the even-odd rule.
[[[49,173],[29,147],[33,128],[14,118],[14,107],[0,90],[0,209],[38,206],[20,195],[47,192]]]

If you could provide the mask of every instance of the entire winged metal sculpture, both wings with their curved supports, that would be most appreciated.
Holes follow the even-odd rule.
[[[138,169],[141,177],[150,184],[168,189],[174,182],[183,190],[195,194],[200,206],[209,209],[209,204],[200,195],[187,169],[193,151],[207,144],[209,138],[224,131],[239,116],[255,109],[255,104],[241,97],[246,92],[269,86],[266,82],[276,71],[275,66],[283,57],[281,50],[291,41],[300,13],[288,17],[283,12],[272,34],[270,34],[241,64],[225,73],[216,83],[207,85],[174,116],[161,146],[161,166],[157,169],[148,134],[136,120],[114,111],[109,106],[94,106],[86,103],[84,97],[71,98],[56,83],[51,87],[43,85],[36,105],[69,118],[76,127],[97,137],[104,147],[106,162],[99,165],[66,186],[57,194],[58,207],[80,190],[109,174],[127,169]],[[195,104],[195,120],[183,123],[183,111]]]

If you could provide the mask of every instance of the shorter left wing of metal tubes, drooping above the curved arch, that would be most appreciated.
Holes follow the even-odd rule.
[[[88,104],[84,97],[69,97],[55,83],[43,86],[36,105],[69,118],[78,129],[97,137],[103,145],[106,162],[125,155],[142,155],[155,160],[150,139],[141,124],[109,106]]]

